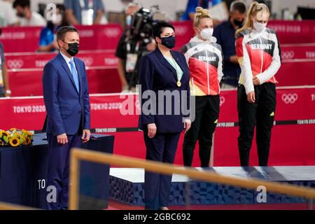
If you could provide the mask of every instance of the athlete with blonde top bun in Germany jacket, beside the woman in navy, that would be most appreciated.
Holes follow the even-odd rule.
[[[199,140],[201,167],[209,167],[212,136],[220,109],[223,53],[212,36],[214,25],[208,10],[196,8],[194,27],[197,35],[182,48],[190,71],[190,92],[195,96],[195,121],[185,135],[183,162],[185,166],[192,165]]]

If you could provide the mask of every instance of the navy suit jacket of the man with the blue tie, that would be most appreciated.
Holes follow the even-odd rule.
[[[47,134],[76,134],[90,129],[90,100],[85,64],[74,57],[80,92],[76,90],[72,73],[59,53],[43,69],[43,98],[47,111]]]

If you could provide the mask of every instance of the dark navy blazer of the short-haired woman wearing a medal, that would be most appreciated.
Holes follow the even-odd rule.
[[[152,90],[156,94],[156,98],[153,99],[148,97],[148,99],[141,99],[141,115],[139,118],[139,128],[141,130],[146,130],[147,124],[155,123],[157,126],[157,132],[160,133],[175,133],[183,131],[183,118],[188,118],[189,114],[189,104],[190,104],[190,72],[188,69],[188,64],[182,52],[171,50],[174,59],[177,64],[181,67],[183,71],[183,76],[181,78],[181,87],[177,86],[177,74],[174,67],[169,64],[167,59],[162,55],[159,48],[156,48],[153,52],[148,55],[145,55],[141,58],[139,63],[139,82],[141,84],[141,96],[143,96],[144,91]],[[158,91],[167,91],[173,92],[174,90],[179,90],[181,92],[186,90],[186,99],[183,101],[181,97],[180,100],[175,101],[172,97],[172,114],[166,114],[167,101],[163,100],[161,97],[158,97]],[[183,96],[185,97],[185,96]],[[142,97],[144,98],[144,97]],[[165,97],[164,97],[165,98]],[[144,104],[148,105],[147,101],[151,101],[156,105],[155,114],[144,114]],[[153,102],[154,101],[154,102]],[[164,102],[164,114],[158,114],[159,102]],[[184,106],[186,110],[181,109],[181,104],[187,102],[188,106]],[[162,104],[162,103],[161,103]],[[175,107],[181,109],[180,113],[176,113],[174,110]]]

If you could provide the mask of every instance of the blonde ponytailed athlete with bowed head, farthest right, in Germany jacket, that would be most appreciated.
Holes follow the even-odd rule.
[[[246,24],[237,30],[235,42],[241,66],[237,89],[239,113],[239,157],[247,167],[256,126],[256,142],[260,166],[267,166],[271,130],[276,108],[276,78],[281,66],[279,41],[276,33],[266,27],[269,9],[253,2]]]

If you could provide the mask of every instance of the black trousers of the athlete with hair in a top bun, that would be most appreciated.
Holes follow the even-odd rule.
[[[196,142],[199,140],[201,167],[209,167],[212,136],[214,130],[216,130],[219,111],[219,95],[196,97],[195,121],[191,124],[183,142],[183,162],[185,166],[191,167]]]

